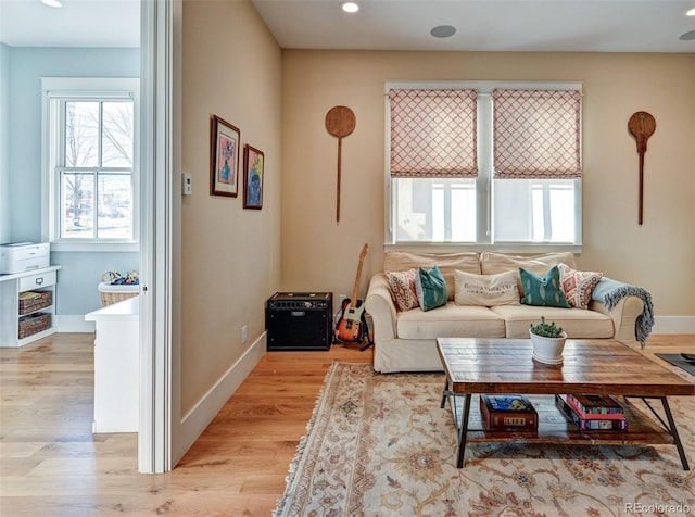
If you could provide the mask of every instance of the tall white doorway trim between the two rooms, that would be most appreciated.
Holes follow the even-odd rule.
[[[174,345],[180,332],[173,321],[180,282],[180,34],[181,0],[141,2],[141,207],[140,222],[140,421],[138,470],[172,470],[173,421],[180,379],[173,378]],[[177,61],[178,60],[178,61]],[[180,418],[179,418],[180,420]]]

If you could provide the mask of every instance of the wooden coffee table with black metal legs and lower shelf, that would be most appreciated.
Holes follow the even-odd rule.
[[[695,384],[619,341],[568,339],[564,363],[531,358],[529,339],[439,338],[437,350],[446,381],[441,407],[450,402],[458,431],[456,466],[464,466],[467,442],[565,442],[602,444],[674,444],[690,470],[671,414],[668,395],[695,395]],[[538,431],[485,430],[471,399],[481,394],[527,394],[539,412]],[[555,407],[555,394],[582,393],[618,398],[629,420],[627,431],[581,431]],[[463,398],[463,404],[457,404]],[[660,426],[629,398],[639,398]],[[661,401],[657,412],[652,400]],[[661,415],[662,414],[662,415]],[[477,418],[477,419],[476,419]]]

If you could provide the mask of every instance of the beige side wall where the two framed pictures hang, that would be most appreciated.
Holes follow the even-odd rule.
[[[279,288],[280,59],[250,2],[184,2],[181,160],[193,194],[181,206],[181,415],[263,336]],[[242,209],[243,182],[236,199],[210,196],[211,114],[264,152],[261,211]]]

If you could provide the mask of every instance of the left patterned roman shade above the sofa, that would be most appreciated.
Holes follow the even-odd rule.
[[[393,89],[391,176],[478,175],[475,90]]]

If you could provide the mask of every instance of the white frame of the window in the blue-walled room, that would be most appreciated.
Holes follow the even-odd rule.
[[[60,175],[56,174],[56,138],[52,136],[55,126],[52,100],[132,99],[134,108],[134,155],[131,239],[62,239],[60,235]],[[51,243],[51,251],[89,252],[138,252],[140,250],[140,79],[96,78],[96,77],[42,77],[41,78],[41,238]]]

